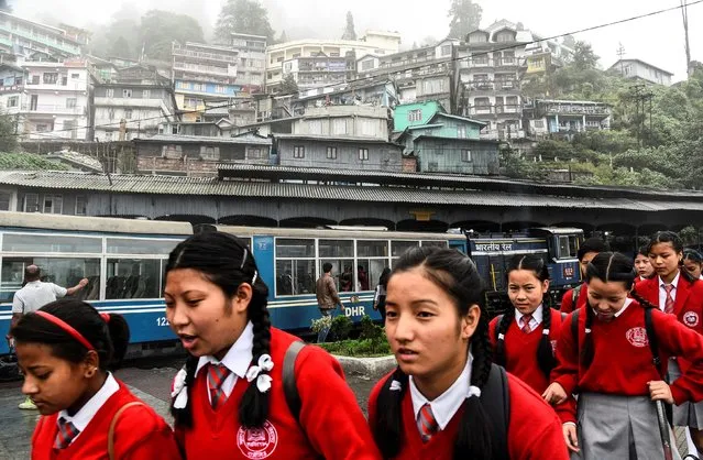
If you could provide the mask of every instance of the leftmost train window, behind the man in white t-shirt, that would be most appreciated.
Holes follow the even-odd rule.
[[[75,297],[94,300],[100,297],[100,259],[81,258],[3,258],[0,277],[0,300],[11,302],[14,293],[24,282],[24,267],[37,265],[42,270],[41,280],[62,287],[73,287],[86,277],[88,285]]]

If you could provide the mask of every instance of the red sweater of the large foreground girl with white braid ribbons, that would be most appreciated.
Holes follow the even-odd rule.
[[[297,338],[271,329],[270,372],[272,386],[268,419],[261,429],[245,429],[238,410],[249,387],[238,379],[232,394],[217,410],[208,399],[207,372],[201,371],[190,391],[193,427],[176,426],[176,439],[188,460],[303,460],[323,456],[334,460],[376,460],[373,442],[356,398],[344,381],[334,358],[318,347],[305,347],[295,364],[300,395],[300,419],[296,420],[285,399],[283,359]],[[252,382],[251,384],[255,384]]]

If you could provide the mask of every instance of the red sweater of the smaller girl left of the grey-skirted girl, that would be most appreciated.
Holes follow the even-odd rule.
[[[542,315],[551,314],[551,325],[549,328],[549,340],[552,344],[552,351],[559,340],[559,333],[561,331],[561,313],[542,307]],[[491,321],[490,337],[493,349],[497,338],[495,337],[495,329],[498,322],[498,317],[493,318]],[[549,386],[549,376],[545,375],[539,363],[537,362],[537,349],[539,342],[542,339],[542,331],[545,330],[543,324],[539,324],[539,327],[530,333],[525,333],[517,326],[517,321],[513,320],[505,333],[505,370],[513,375],[527,383],[537,393],[542,394]]]

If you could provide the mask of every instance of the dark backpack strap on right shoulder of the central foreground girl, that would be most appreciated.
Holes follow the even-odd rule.
[[[510,424],[510,395],[507,373],[497,364],[491,364],[488,381],[481,390],[481,405],[488,416],[493,437],[492,450],[494,460],[508,460],[507,439]]]

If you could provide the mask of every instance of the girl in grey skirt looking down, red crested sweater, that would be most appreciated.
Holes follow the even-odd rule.
[[[564,393],[579,394],[578,404],[570,396],[557,406],[572,459],[660,460],[663,448],[652,401],[703,398],[703,336],[645,299],[629,298],[634,280],[630,259],[600,253],[586,269],[587,306],[562,325],[552,381]],[[648,337],[645,309],[651,309],[656,338]],[[573,318],[578,337],[565,333]],[[650,341],[658,343],[657,363],[679,355],[692,366],[668,385]]]

